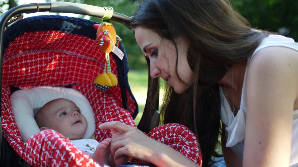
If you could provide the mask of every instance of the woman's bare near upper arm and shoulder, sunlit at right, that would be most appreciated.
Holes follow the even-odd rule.
[[[284,47],[258,51],[247,73],[243,166],[289,166],[298,52]]]

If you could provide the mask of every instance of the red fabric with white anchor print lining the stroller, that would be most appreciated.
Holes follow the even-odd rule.
[[[93,80],[103,72],[105,59],[104,54],[93,44],[94,40],[88,37],[50,30],[26,32],[11,42],[7,48],[2,70],[3,136],[16,153],[31,166],[101,165],[54,130],[41,131],[23,142],[13,117],[8,85],[32,88],[72,84],[72,88],[80,91],[89,100],[94,110],[96,127],[108,121],[120,121],[136,127],[131,117],[136,106],[128,91],[126,94],[130,112],[122,108],[119,84],[107,91],[100,91],[94,87]],[[112,56],[110,59],[112,73],[117,76],[116,62]],[[153,129],[148,136],[168,144],[201,166],[198,141],[187,127],[167,124]],[[110,130],[96,129],[97,141],[107,137],[111,137]],[[136,159],[133,162],[142,163]]]

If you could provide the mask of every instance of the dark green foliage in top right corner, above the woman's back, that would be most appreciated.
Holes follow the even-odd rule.
[[[232,4],[252,27],[277,32],[298,42],[297,0],[232,0]]]

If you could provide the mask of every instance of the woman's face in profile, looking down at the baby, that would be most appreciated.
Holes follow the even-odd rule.
[[[156,32],[143,27],[135,29],[136,42],[150,59],[150,75],[161,77],[173,86],[176,93],[183,93],[194,82],[194,72],[187,62],[189,43],[182,37],[175,39],[178,47],[176,73],[176,49],[170,40],[162,39]]]

